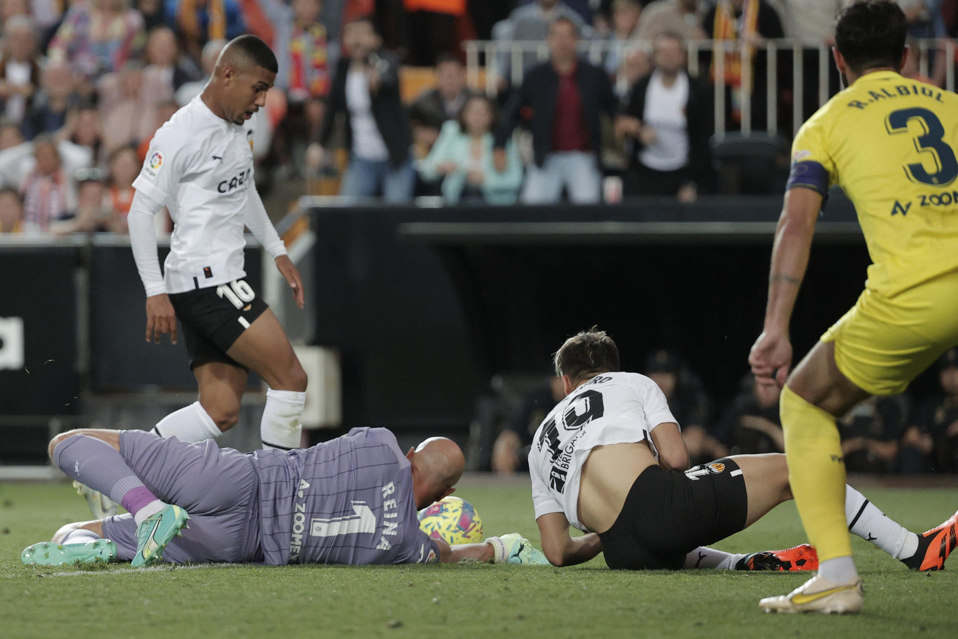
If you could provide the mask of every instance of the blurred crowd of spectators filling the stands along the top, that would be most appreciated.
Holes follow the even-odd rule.
[[[693,201],[714,188],[717,69],[730,89],[725,128],[741,127],[750,99],[751,127],[764,130],[765,69],[775,65],[773,111],[790,131],[793,102],[803,117],[817,106],[818,51],[769,59],[764,42],[831,44],[844,2],[0,0],[0,233],[125,233],[150,137],[242,33],[262,37],[280,65],[255,125],[263,188],[274,175],[318,176],[330,194],[398,203],[593,203],[615,199],[603,189],[614,175],[619,194]],[[958,0],[899,2],[911,36],[958,34]],[[687,42],[703,38],[752,53],[732,47],[717,64],[706,47],[693,78]],[[548,59],[503,47],[498,84],[468,87],[462,43],[471,39],[540,42]],[[602,59],[577,53],[584,40],[603,45]],[[917,53],[905,74],[926,68],[943,84],[945,56],[920,67]],[[411,67],[434,67],[420,95],[404,90]],[[829,82],[833,93],[834,72]],[[496,95],[479,94],[489,86]],[[169,217],[156,223],[170,230]]]

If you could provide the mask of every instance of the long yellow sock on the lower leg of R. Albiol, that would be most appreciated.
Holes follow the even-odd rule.
[[[832,415],[782,389],[779,412],[785,431],[788,483],[805,534],[818,560],[852,555],[845,522],[845,462]]]

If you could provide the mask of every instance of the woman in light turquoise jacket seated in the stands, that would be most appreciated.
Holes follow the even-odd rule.
[[[493,104],[485,96],[468,99],[458,120],[443,132],[420,171],[425,180],[443,178],[447,204],[513,204],[522,186],[522,162],[512,140],[506,143],[506,169],[492,166]]]

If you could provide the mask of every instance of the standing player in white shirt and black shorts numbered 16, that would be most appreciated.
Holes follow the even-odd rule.
[[[230,41],[199,96],[153,136],[133,182],[129,235],[147,292],[147,341],[159,343],[176,321],[199,385],[199,399],[158,422],[155,432],[180,441],[217,437],[239,418],[249,371],[269,385],[263,447],[300,445],[307,376],[273,312],[243,277],[243,226],[249,227],[303,308],[299,271],[286,256],[253,182],[249,120],[265,105],[276,57],[254,35]],[[161,275],[153,216],[173,220]]]

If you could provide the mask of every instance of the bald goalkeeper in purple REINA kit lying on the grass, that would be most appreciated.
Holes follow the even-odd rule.
[[[68,524],[24,550],[27,564],[547,563],[517,534],[450,547],[420,530],[417,510],[454,491],[465,466],[442,437],[403,455],[385,428],[354,428],[303,450],[244,454],[209,440],[82,429],[57,435],[50,456],[129,513]]]

